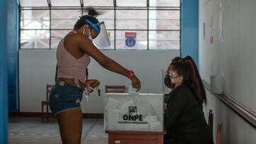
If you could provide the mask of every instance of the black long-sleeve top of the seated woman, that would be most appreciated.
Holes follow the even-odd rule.
[[[213,143],[206,119],[193,93],[186,85],[174,89],[164,115],[165,140],[186,140],[189,143]]]

